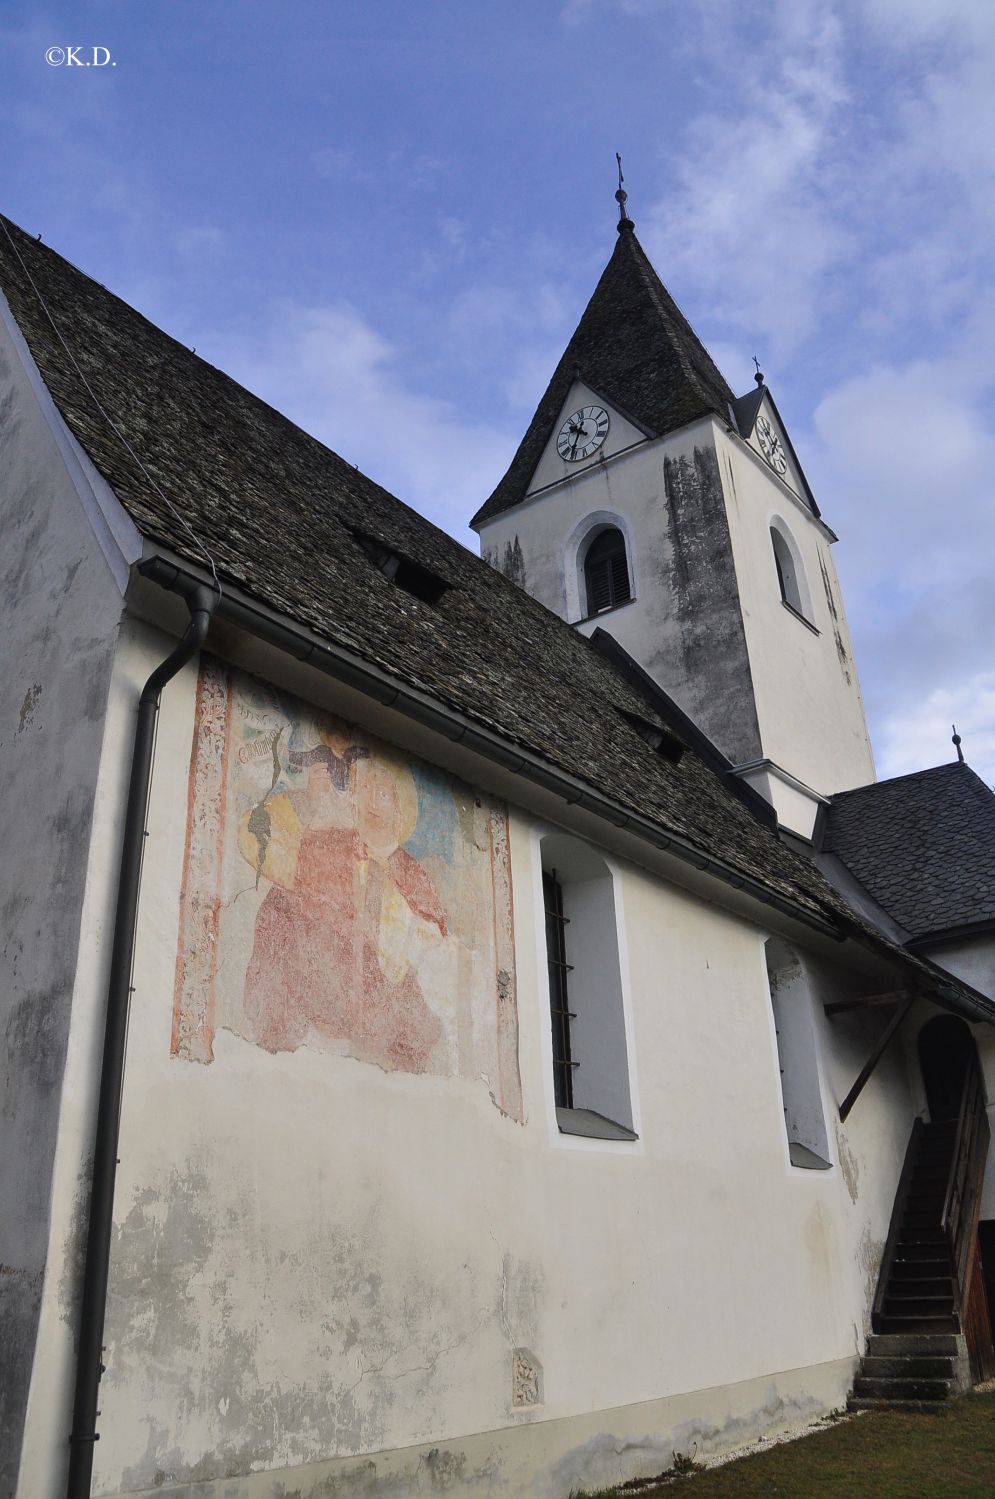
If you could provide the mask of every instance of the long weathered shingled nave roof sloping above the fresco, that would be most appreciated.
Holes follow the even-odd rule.
[[[6,220],[0,289],[66,424],[151,543],[202,568],[199,541],[222,582],[892,949],[704,760],[658,754],[625,717],[662,723],[652,702],[495,568]],[[357,532],[445,580],[441,600],[390,582]]]

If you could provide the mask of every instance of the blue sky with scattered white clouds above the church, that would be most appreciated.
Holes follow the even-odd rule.
[[[0,207],[475,547],[614,243],[841,537],[880,775],[995,781],[991,0],[75,0]],[[114,66],[49,66],[103,46]]]

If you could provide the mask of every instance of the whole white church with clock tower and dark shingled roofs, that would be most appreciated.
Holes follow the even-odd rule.
[[[0,505],[0,1499],[566,1499],[995,1373],[995,793],[875,781],[623,196],[480,558],[4,219]]]

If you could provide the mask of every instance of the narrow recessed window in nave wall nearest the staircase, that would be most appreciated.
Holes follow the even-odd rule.
[[[829,1136],[818,1081],[815,1018],[805,970],[791,949],[772,938],[766,947],[767,986],[778,1040],[781,1103],[793,1166],[829,1171]]]

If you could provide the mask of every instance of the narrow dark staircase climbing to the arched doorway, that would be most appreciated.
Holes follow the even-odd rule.
[[[956,1120],[919,1123],[908,1148],[851,1411],[935,1406],[971,1385],[955,1267],[941,1226]]]

